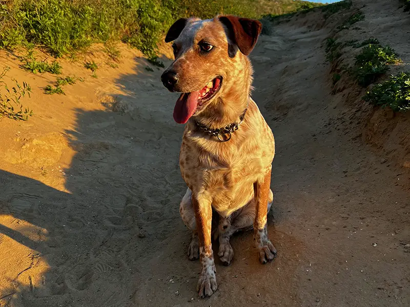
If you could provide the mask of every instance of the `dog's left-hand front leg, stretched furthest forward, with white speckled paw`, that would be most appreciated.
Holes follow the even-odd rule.
[[[198,201],[194,193],[192,193],[192,205],[195,212],[199,238],[199,259],[202,266],[196,290],[200,297],[206,297],[211,296],[218,288],[215,276],[214,253],[211,244],[212,207],[211,202],[208,200]]]

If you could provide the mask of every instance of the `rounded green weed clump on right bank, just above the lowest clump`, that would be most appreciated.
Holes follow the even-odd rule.
[[[388,64],[399,62],[396,52],[386,46],[368,45],[356,56],[353,74],[361,86],[375,82],[388,70]]]

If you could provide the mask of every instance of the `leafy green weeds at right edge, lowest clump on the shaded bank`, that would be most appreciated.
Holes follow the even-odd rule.
[[[362,99],[381,107],[389,106],[395,112],[410,110],[410,74],[402,72],[390,76],[388,80],[373,86]]]

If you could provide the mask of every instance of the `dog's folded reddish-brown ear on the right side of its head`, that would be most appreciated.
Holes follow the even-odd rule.
[[[228,28],[229,38],[234,40],[240,52],[249,55],[262,30],[260,21],[233,15],[220,16],[219,21]]]

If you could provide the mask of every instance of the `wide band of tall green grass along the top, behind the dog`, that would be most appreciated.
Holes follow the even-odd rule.
[[[0,48],[39,46],[54,56],[86,50],[94,42],[128,42],[148,57],[180,17],[217,13],[259,18],[317,6],[277,0],[8,0],[0,2]],[[114,44],[115,45],[115,44]],[[109,47],[110,49],[110,47]],[[115,50],[109,56],[118,56]]]

